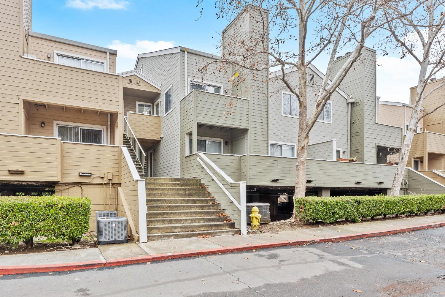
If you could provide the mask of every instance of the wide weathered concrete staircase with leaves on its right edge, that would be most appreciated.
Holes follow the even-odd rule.
[[[237,234],[201,179],[146,178],[147,239]]]

